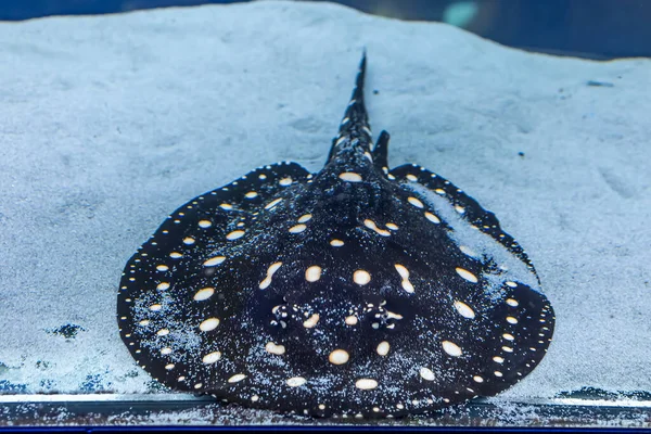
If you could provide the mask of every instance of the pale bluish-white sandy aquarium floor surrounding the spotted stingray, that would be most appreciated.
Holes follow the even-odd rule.
[[[126,260],[177,206],[254,167],[319,170],[362,48],[391,165],[421,164],[495,212],[556,309],[540,366],[487,403],[651,393],[651,61],[265,1],[0,24],[3,398],[157,392],[118,335]],[[205,419],[192,411],[167,417]]]

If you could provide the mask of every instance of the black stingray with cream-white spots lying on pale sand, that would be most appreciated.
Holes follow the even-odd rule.
[[[495,215],[373,144],[366,54],[324,167],[259,167],[175,210],[127,263],[124,343],[157,382],[317,417],[397,417],[496,395],[554,315]]]

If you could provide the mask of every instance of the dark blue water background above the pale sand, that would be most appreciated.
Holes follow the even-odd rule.
[[[320,0],[312,0],[320,1]],[[459,0],[339,0],[401,20],[441,21]],[[118,13],[235,0],[0,0],[0,20]],[[474,0],[467,28],[500,43],[592,59],[651,56],[651,0]]]

